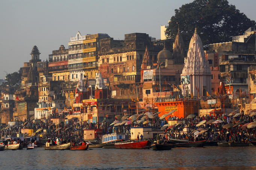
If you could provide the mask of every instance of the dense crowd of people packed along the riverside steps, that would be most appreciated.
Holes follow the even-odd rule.
[[[190,141],[200,141],[200,140],[208,140],[208,141],[234,141],[234,142],[248,142],[250,140],[256,140],[256,133],[255,128],[241,128],[241,126],[247,122],[253,122],[256,121],[255,116],[248,116],[248,115],[241,115],[236,118],[233,118],[232,116],[226,116],[226,115],[218,115],[214,119],[223,120],[222,123],[218,124],[203,124],[199,127],[196,126],[198,122],[210,119],[213,119],[213,117],[200,117],[200,118],[189,118],[189,119],[183,119],[183,118],[170,118],[172,120],[182,121],[179,125],[174,125],[173,127],[164,126],[167,124],[166,119],[160,120],[158,116],[154,117],[153,119],[150,119],[150,123],[148,124],[139,124],[138,126],[151,126],[153,130],[162,130],[162,135],[160,137],[160,142],[167,142],[170,139],[181,139],[181,140],[190,140]],[[115,121],[115,119],[112,119],[112,121]],[[135,121],[136,122],[136,121]],[[223,125],[227,123],[233,123],[236,124],[237,122],[243,122],[241,125],[225,129],[223,128]],[[16,136],[17,133],[21,133],[21,128],[33,128],[38,130],[39,128],[46,129],[46,132],[42,133],[42,137],[40,139],[46,139],[49,145],[55,144],[62,144],[66,142],[72,142],[72,143],[82,143],[83,140],[83,130],[84,129],[102,129],[102,135],[104,134],[111,134],[111,133],[117,133],[117,134],[126,134],[128,137],[130,137],[130,126],[136,126],[136,124],[130,124],[130,125],[120,125],[120,126],[114,126],[110,125],[109,122],[103,121],[103,122],[97,122],[97,123],[76,123],[76,124],[58,124],[53,125],[52,122],[37,122],[35,121],[27,121],[27,123],[24,125],[24,122],[18,122],[18,125],[15,125],[13,127],[8,128],[7,130],[5,127],[0,127],[0,135],[1,137],[4,136]],[[163,127],[164,126],[164,127]],[[183,133],[183,128],[188,127],[189,132]],[[59,130],[56,130],[59,129]],[[208,129],[205,133],[197,135],[196,133],[192,133],[194,130],[202,130],[202,129]],[[38,133],[39,134],[39,133]],[[102,135],[97,135],[94,140],[99,141],[101,140]],[[11,142],[11,141],[10,141]],[[12,141],[15,142],[15,141]],[[19,142],[19,141],[17,141]]]

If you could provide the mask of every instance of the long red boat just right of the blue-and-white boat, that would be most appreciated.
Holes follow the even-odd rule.
[[[117,149],[148,149],[149,147],[150,142],[148,140],[115,143]]]

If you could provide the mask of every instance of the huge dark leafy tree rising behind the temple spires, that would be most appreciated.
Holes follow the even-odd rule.
[[[211,43],[232,41],[232,36],[244,34],[249,27],[255,27],[256,22],[227,0],[194,0],[175,9],[166,30],[172,41],[175,40],[178,25],[185,48],[188,48],[195,27],[204,47],[207,47]]]

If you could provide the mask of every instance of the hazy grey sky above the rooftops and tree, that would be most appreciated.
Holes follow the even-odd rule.
[[[36,45],[42,61],[71,36],[107,33],[147,33],[160,39],[174,10],[193,0],[2,0],[0,5],[0,79],[31,59]],[[256,20],[255,0],[229,0],[248,18]]]

